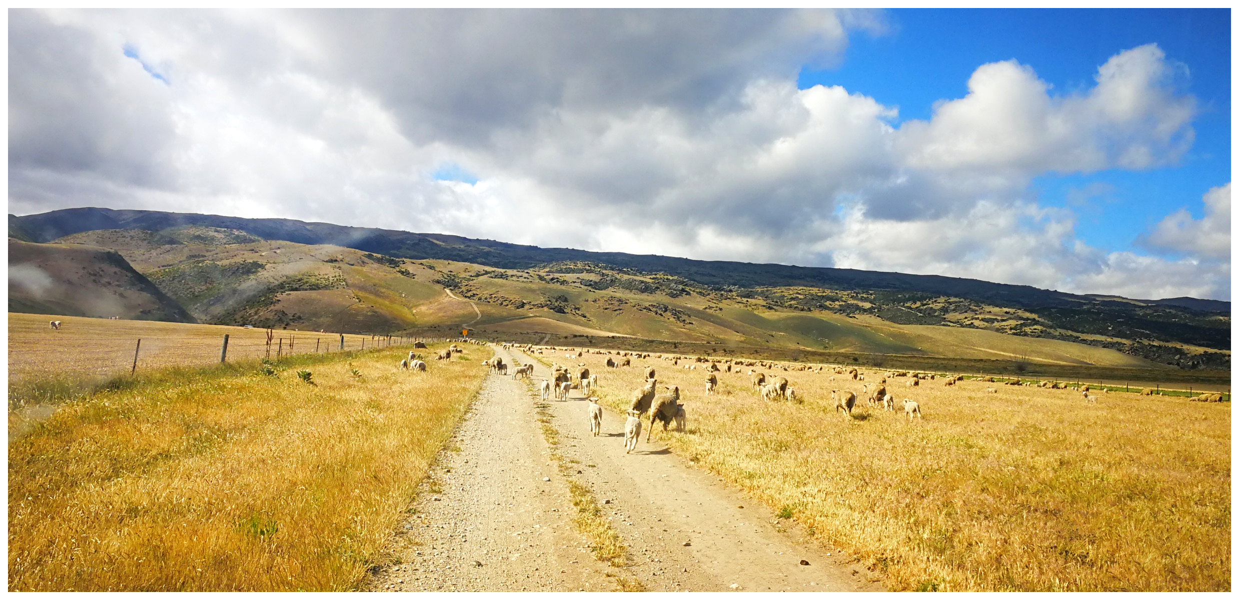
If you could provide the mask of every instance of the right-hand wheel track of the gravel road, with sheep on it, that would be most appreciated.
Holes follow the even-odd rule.
[[[534,362],[534,376],[550,369]],[[569,366],[572,367],[572,366]],[[606,373],[598,373],[605,378]],[[603,383],[605,384],[605,383]],[[880,591],[864,568],[787,527],[752,498],[670,452],[641,441],[623,450],[626,417],[605,410],[600,436],[590,434],[585,398],[550,400],[559,451],[576,462],[603,514],[629,548],[627,570],[653,591]],[[689,415],[691,419],[691,414]],[[647,423],[648,425],[648,423]],[[642,431],[644,440],[646,431]],[[790,529],[790,531],[787,531]],[[802,560],[808,564],[802,564]]]

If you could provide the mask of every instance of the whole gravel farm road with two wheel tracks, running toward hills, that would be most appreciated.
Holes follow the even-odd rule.
[[[550,374],[534,364],[535,382]],[[623,420],[606,413],[603,435],[591,436],[586,402],[572,393],[550,402],[558,450],[580,461],[575,476],[628,547],[627,567],[590,555],[589,540],[572,528],[567,482],[538,429],[535,400],[524,382],[492,374],[400,528],[399,560],[375,573],[368,589],[611,591],[621,578],[628,589],[639,581],[652,591],[882,589],[847,557],[798,542],[768,510],[670,454],[657,433],[626,455]]]

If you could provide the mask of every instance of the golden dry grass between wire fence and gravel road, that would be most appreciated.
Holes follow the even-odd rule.
[[[356,589],[481,387],[491,351],[467,348],[426,373],[396,369],[405,348],[165,371],[62,405],[10,436],[9,589]]]

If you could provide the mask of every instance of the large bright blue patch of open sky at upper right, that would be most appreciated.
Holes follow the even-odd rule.
[[[942,99],[968,93],[980,64],[1016,60],[1053,86],[1052,95],[1092,88],[1100,64],[1157,43],[1188,72],[1176,78],[1199,102],[1196,143],[1175,167],[1047,174],[1030,192],[1042,206],[1068,206],[1078,237],[1105,250],[1145,250],[1137,237],[1168,212],[1202,216],[1202,196],[1230,181],[1230,11],[1228,9],[895,9],[883,35],[854,35],[835,68],[800,71],[797,84],[843,86],[898,107],[892,124],[929,119]],[[1109,186],[1080,206],[1069,198]],[[1075,192],[1075,193],[1073,193]],[[1134,245],[1135,244],[1135,245]]]

